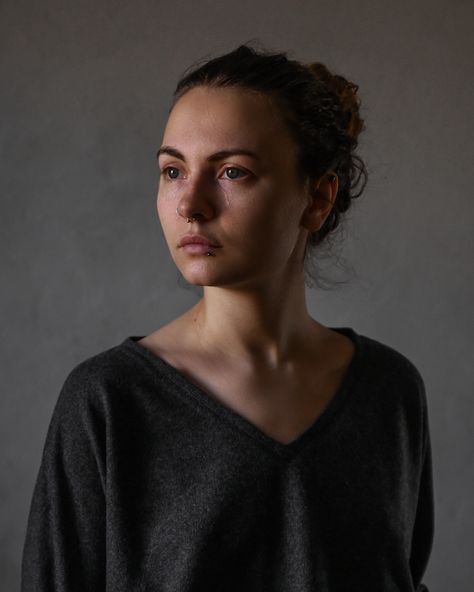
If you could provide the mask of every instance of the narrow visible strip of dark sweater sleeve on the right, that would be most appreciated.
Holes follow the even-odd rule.
[[[428,565],[434,537],[434,494],[431,440],[425,387],[420,377],[423,406],[423,463],[420,476],[417,510],[413,527],[410,568],[416,592],[429,592],[422,578]]]

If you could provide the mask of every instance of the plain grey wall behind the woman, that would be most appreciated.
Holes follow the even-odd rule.
[[[19,585],[68,372],[198,297],[178,281],[159,226],[155,153],[184,69],[251,39],[360,86],[369,185],[339,258],[324,262],[346,282],[309,290],[310,311],[418,366],[436,502],[424,579],[433,592],[472,590],[472,22],[461,0],[3,0],[2,590]]]

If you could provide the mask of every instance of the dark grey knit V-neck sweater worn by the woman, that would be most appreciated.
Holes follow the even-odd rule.
[[[130,336],[74,367],[32,496],[22,592],[413,592],[431,553],[427,401],[351,328],[336,396],[264,434]]]

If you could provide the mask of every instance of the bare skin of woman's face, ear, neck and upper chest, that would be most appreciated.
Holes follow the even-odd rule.
[[[256,156],[216,156],[233,149]],[[337,179],[326,174],[310,185],[300,178],[279,108],[237,88],[184,94],[161,152],[163,233],[182,275],[204,294],[141,344],[289,441],[325,406],[353,353],[351,340],[313,319],[305,300],[308,231],[329,215]],[[179,241],[189,232],[221,247],[212,256],[186,252]]]

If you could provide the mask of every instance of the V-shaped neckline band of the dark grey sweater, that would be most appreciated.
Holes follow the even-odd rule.
[[[272,438],[265,432],[263,432],[254,423],[248,420],[237,411],[234,411],[224,403],[211,397],[204,389],[200,388],[197,384],[191,381],[182,371],[175,368],[172,364],[161,358],[148,348],[139,345],[137,342],[143,339],[143,335],[130,335],[126,337],[120,344],[128,350],[132,350],[138,354],[141,358],[145,359],[147,363],[157,371],[165,370],[166,376],[173,381],[173,383],[179,388],[186,391],[187,395],[191,395],[193,400],[197,401],[200,405],[210,409],[214,414],[223,418],[231,429],[238,429],[244,431],[250,435],[253,439],[257,440],[265,448],[273,451],[274,453],[284,458],[290,458],[296,455],[304,446],[312,441],[317,434],[323,431],[328,425],[330,420],[335,416],[337,411],[341,408],[345,399],[351,392],[351,387],[356,382],[357,369],[360,365],[362,357],[363,342],[361,336],[350,327],[328,327],[333,331],[337,331],[342,335],[345,335],[351,339],[354,344],[354,353],[352,359],[349,362],[346,373],[339,385],[336,393],[332,396],[329,403],[322,410],[322,412],[316,417],[316,419],[307,427],[302,433],[290,442],[284,444],[275,438]]]

